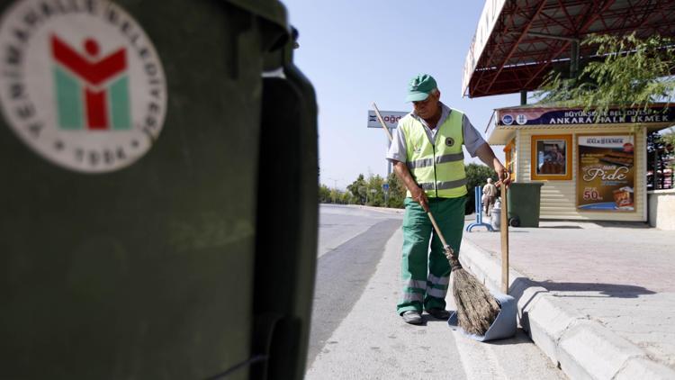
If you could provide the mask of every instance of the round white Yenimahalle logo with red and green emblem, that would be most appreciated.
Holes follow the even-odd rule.
[[[164,124],[166,79],[157,51],[109,1],[15,2],[0,20],[0,73],[5,121],[60,167],[127,167]]]

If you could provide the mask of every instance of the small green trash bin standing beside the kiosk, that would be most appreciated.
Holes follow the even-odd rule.
[[[514,182],[509,185],[509,226],[539,227],[542,182]]]

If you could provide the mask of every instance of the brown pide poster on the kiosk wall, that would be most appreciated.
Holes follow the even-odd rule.
[[[634,136],[594,135],[578,139],[577,208],[635,211]]]

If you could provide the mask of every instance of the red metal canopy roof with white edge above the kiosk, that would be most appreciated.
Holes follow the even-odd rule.
[[[488,0],[464,63],[463,95],[535,90],[591,33],[675,36],[672,0]],[[577,45],[578,46],[578,45]],[[593,47],[581,46],[580,57]]]

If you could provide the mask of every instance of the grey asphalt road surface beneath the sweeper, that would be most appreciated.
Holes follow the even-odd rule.
[[[320,206],[306,378],[565,378],[523,331],[479,343],[426,314],[422,326],[401,321],[401,220],[401,212]],[[446,301],[454,309],[451,294]]]

